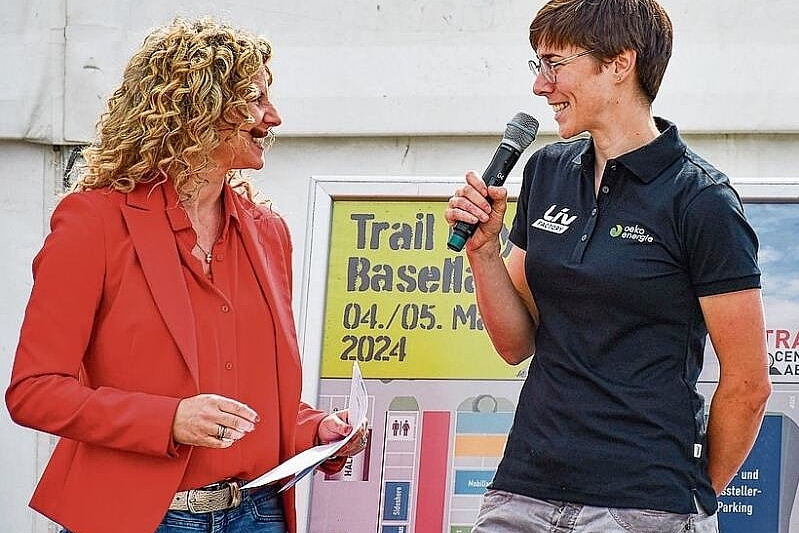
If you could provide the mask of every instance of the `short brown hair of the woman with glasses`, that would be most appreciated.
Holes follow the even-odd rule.
[[[651,103],[671,58],[671,20],[655,0],[549,0],[530,24],[530,44],[579,46],[610,61],[637,53],[641,90]]]

